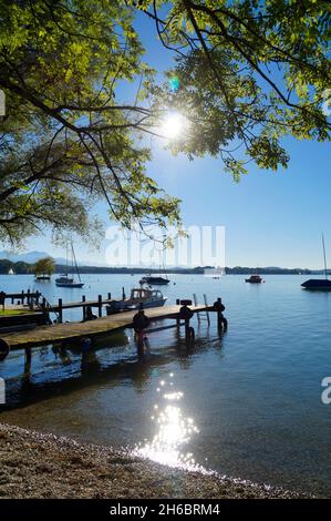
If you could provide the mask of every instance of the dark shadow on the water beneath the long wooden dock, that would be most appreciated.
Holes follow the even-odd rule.
[[[184,331],[177,329],[170,339],[168,334],[165,336],[163,346],[155,340],[151,335],[144,353],[138,353],[134,338],[121,331],[99,338],[87,353],[74,344],[50,345],[32,349],[31,360],[27,360],[22,353],[15,351],[12,362],[15,367],[21,365],[23,370],[7,377],[2,364],[7,403],[0,406],[0,411],[24,408],[93,386],[111,389],[130,382],[141,392],[157,368],[176,360],[180,369],[187,370],[193,357],[221,348],[220,337],[211,337],[208,329],[200,327],[194,344],[187,344]]]

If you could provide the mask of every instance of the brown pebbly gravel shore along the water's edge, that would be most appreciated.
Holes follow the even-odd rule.
[[[0,423],[0,498],[299,498]]]

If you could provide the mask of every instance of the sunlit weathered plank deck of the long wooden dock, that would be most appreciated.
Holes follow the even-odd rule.
[[[189,307],[194,313],[215,310],[214,306],[197,305]],[[153,320],[163,320],[166,318],[177,318],[179,309],[180,306],[177,305],[155,307],[146,309],[145,314]],[[1,335],[1,339],[10,346],[10,349],[24,349],[52,343],[74,340],[82,337],[94,337],[131,327],[135,314],[136,310],[111,315],[85,323],[64,323],[40,326],[33,330]]]

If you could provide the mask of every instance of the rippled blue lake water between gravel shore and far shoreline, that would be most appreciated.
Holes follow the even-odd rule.
[[[76,300],[137,284],[138,276],[84,275],[83,289],[37,285],[31,276],[1,276],[6,292],[40,289],[50,302]],[[93,353],[33,349],[31,371],[13,351],[0,362],[7,382],[1,421],[133,451],[167,464],[331,496],[331,405],[321,381],[331,376],[331,293],[300,288],[303,276],[244,276],[219,280],[174,275],[176,298],[226,305],[228,331],[216,316],[201,320],[187,349],[183,331],[151,334],[138,358],[132,330],[97,341]],[[176,283],[176,284],[174,284]],[[81,319],[81,310],[65,319]]]

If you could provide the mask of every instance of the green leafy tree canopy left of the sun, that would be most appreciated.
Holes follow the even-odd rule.
[[[117,85],[152,72],[122,1],[0,2],[0,226],[12,243],[51,224],[89,235],[93,206],[113,218],[178,224],[178,201],[146,175],[134,133],[149,114]],[[141,89],[143,92],[143,89]]]

